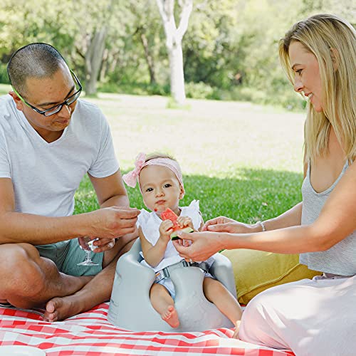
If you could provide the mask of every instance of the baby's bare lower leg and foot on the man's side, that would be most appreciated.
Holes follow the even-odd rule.
[[[177,310],[174,308],[174,300],[164,286],[155,283],[150,290],[152,307],[161,315],[162,319],[172,328],[179,327]]]

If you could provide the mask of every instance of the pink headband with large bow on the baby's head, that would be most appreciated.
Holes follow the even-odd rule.
[[[127,174],[124,174],[122,176],[122,179],[124,179],[124,182],[129,187],[135,188],[136,182],[138,182],[138,179],[140,177],[141,169],[143,167],[150,166],[153,164],[155,166],[162,166],[170,169],[176,175],[180,185],[184,190],[182,172],[180,170],[179,164],[176,161],[170,158],[161,158],[161,157],[150,159],[147,162],[145,162],[145,160],[146,160],[145,153],[139,153],[139,155],[136,158],[135,168],[132,169],[131,172],[128,172]]]

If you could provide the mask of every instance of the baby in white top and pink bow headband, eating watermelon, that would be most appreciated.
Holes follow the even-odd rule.
[[[123,179],[130,187],[135,187],[136,182],[139,182],[145,206],[152,211],[142,209],[138,216],[137,224],[144,258],[141,263],[156,272],[155,283],[150,290],[153,308],[172,328],[177,328],[179,315],[174,308],[174,285],[171,279],[165,278],[161,272],[167,266],[182,263],[184,258],[179,256],[171,241],[172,221],[162,221],[161,214],[169,208],[177,214],[177,224],[182,229],[190,227],[194,231],[200,231],[204,221],[199,211],[199,201],[194,200],[189,206],[179,206],[179,200],[184,197],[182,172],[178,162],[167,155],[146,157],[140,153],[135,162],[135,169],[125,174]],[[183,244],[182,240],[179,242]],[[204,295],[236,325],[241,319],[241,307],[229,290],[208,272],[212,263],[214,258],[209,258],[204,263],[207,267],[204,271]]]

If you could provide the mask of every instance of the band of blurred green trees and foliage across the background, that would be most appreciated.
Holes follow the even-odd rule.
[[[356,24],[355,1],[349,0],[193,4],[182,41],[188,96],[294,103],[278,63],[279,38],[295,21],[321,12]],[[167,93],[166,39],[153,0],[2,0],[0,81],[6,81],[4,68],[11,53],[27,43],[46,42],[61,51],[89,92],[95,93],[98,80],[99,88],[145,86],[151,90],[147,93]]]

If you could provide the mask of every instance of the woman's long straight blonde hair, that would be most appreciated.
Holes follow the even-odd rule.
[[[305,121],[304,162],[328,151],[330,125],[347,159],[356,157],[356,32],[337,16],[319,14],[295,23],[279,43],[279,58],[291,83],[289,46],[300,42],[319,64],[323,112],[308,104]]]

